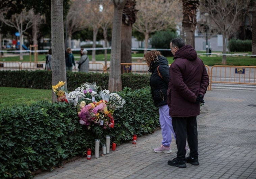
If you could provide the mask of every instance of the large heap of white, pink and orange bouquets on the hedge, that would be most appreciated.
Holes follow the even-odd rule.
[[[103,128],[114,127],[114,110],[122,108],[125,100],[117,93],[109,90],[100,91],[95,83],[84,83],[75,91],[68,94],[69,101],[83,100],[78,106],[79,123],[91,128],[91,125],[100,125]],[[86,105],[84,100],[89,101]],[[77,103],[74,103],[76,106]]]

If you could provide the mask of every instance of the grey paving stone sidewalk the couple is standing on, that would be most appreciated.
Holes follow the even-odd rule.
[[[41,172],[36,179],[83,178],[256,178],[256,90],[207,91],[198,116],[199,166],[167,165],[172,153],[154,153],[161,145],[161,130],[127,142],[99,158],[70,161],[64,168]]]

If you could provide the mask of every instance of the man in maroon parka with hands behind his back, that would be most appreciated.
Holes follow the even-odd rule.
[[[169,68],[167,102],[178,151],[177,157],[169,160],[168,165],[185,168],[186,162],[199,165],[197,116],[200,114],[200,103],[204,102],[209,76],[195,49],[185,45],[182,38],[174,38],[170,46],[174,62]],[[188,157],[185,157],[186,140],[190,148]]]

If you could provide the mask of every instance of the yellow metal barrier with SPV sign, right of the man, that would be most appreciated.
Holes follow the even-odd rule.
[[[212,83],[256,85],[256,66],[214,65],[211,67]]]

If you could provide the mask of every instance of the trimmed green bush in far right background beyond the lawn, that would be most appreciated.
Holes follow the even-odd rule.
[[[232,38],[229,40],[229,50],[231,52],[251,52],[252,40],[240,40]]]

